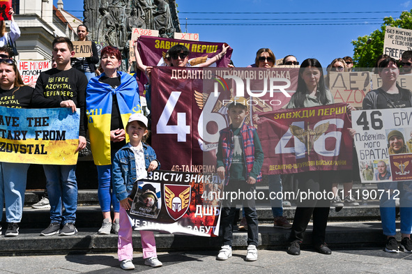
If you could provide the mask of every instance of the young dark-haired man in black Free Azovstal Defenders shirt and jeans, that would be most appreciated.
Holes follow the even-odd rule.
[[[85,93],[87,86],[86,76],[72,68],[70,58],[73,57],[73,43],[66,37],[57,37],[53,40],[53,57],[57,67],[40,73],[33,100],[46,98],[49,105],[44,107],[70,107],[73,112],[76,108],[80,112],[79,145],[75,152],[86,146],[86,129],[84,125]],[[41,236],[58,234],[61,236],[77,233],[75,227],[77,211],[77,180],[76,165],[43,165],[47,179],[47,192],[50,201],[51,223],[43,230]],[[62,213],[62,206],[65,210]],[[61,224],[63,225],[61,229]],[[61,229],[61,230],[60,230]]]

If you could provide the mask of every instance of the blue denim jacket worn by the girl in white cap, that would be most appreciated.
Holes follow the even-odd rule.
[[[151,146],[143,142],[142,145],[144,150],[144,164],[146,169],[148,169],[150,163],[153,160],[158,161],[158,159],[156,159],[156,153]],[[160,168],[159,161],[158,164],[157,169]],[[130,143],[128,143],[117,151],[112,164],[113,191],[119,201],[129,196],[129,192],[132,191],[136,178],[135,153],[130,149]]]

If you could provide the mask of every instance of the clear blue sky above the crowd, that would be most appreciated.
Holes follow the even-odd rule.
[[[53,0],[57,6],[57,0]],[[83,0],[63,0],[64,9],[82,19]],[[282,59],[300,63],[318,59],[323,67],[335,58],[352,56],[352,40],[378,29],[383,17],[399,18],[412,1],[383,0],[176,0],[182,32],[199,33],[207,42],[225,42],[236,67],[254,63],[268,47]],[[187,19],[186,19],[187,18]],[[187,23],[187,26],[186,26]]]

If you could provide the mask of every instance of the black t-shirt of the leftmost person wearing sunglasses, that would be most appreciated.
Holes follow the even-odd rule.
[[[27,109],[31,104],[33,90],[30,86],[15,86],[9,90],[0,88],[0,106]]]

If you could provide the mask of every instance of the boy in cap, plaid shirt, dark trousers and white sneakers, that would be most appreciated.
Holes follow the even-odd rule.
[[[245,197],[236,201],[223,200],[222,220],[220,222],[223,230],[223,245],[218,254],[218,260],[226,260],[231,257],[236,204],[243,204],[247,221],[246,261],[256,261],[259,232],[256,206],[252,194],[255,190],[255,183],[261,181],[264,153],[256,128],[246,125],[244,122],[248,114],[246,99],[237,98],[231,102],[227,112],[231,124],[220,131],[218,153],[216,154],[218,176],[224,180],[224,192],[243,192]],[[231,197],[231,195],[226,197]],[[249,199],[250,197],[252,199]]]

